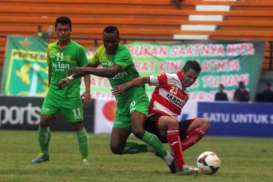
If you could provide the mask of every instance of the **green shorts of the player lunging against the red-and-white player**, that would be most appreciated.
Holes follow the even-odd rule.
[[[131,113],[141,112],[148,114],[149,99],[144,93],[138,97],[128,97],[126,101],[117,102],[116,117],[114,128],[131,128]]]

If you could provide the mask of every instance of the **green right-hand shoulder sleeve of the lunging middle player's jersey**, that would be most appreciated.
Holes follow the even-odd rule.
[[[122,69],[127,68],[133,64],[132,56],[127,48],[122,49],[114,58],[114,63],[122,67]]]

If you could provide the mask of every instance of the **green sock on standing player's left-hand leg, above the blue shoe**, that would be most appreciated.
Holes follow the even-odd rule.
[[[39,127],[38,138],[39,138],[40,149],[43,155],[48,156],[48,145],[51,138],[50,129]]]

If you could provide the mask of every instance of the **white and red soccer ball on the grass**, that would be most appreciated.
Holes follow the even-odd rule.
[[[221,160],[214,152],[203,152],[197,158],[197,166],[203,174],[214,174],[221,165]]]

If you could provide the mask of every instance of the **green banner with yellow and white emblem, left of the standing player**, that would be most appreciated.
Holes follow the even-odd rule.
[[[47,92],[47,42],[35,37],[8,36],[2,94],[44,96]]]

